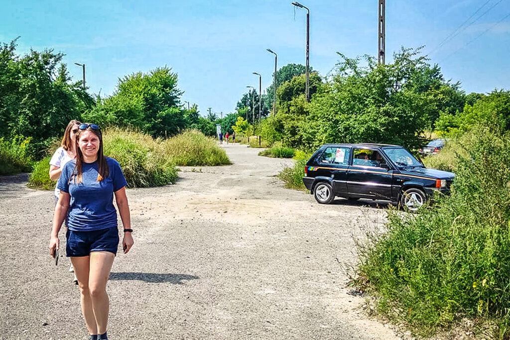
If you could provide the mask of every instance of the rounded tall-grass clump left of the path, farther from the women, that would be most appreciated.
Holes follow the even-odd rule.
[[[179,166],[216,166],[231,164],[224,149],[214,138],[197,130],[184,133],[163,142],[165,153]]]

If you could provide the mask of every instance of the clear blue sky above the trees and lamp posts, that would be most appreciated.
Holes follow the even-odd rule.
[[[306,11],[290,3],[6,0],[0,41],[21,36],[20,54],[30,48],[64,53],[73,80],[82,76],[73,63],[85,63],[89,91],[101,96],[114,91],[119,77],[167,65],[179,75],[183,102],[197,103],[202,115],[208,107],[219,115],[235,110],[247,85],[258,88],[253,71],[262,74],[263,90],[271,84],[274,56],[266,48],[278,54],[278,68],[305,63]],[[376,0],[301,3],[311,13],[310,65],[321,75],[335,66],[337,51],[376,56]],[[466,92],[510,89],[509,0],[388,0],[386,21],[387,63],[400,46],[425,45],[430,62]]]

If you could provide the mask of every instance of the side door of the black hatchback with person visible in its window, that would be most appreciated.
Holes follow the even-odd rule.
[[[392,200],[393,169],[377,149],[353,148],[347,172],[347,191],[351,197]],[[363,154],[364,158],[358,156]]]

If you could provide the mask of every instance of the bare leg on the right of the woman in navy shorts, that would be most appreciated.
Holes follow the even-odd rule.
[[[110,301],[106,293],[106,283],[108,282],[114,259],[115,255],[108,251],[94,251],[90,253],[89,292],[97,325],[97,334],[105,333],[108,324]]]

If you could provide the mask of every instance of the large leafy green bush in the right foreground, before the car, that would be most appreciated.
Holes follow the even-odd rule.
[[[479,128],[471,138],[467,156],[457,154],[450,196],[417,215],[390,210],[386,232],[358,243],[358,284],[420,335],[468,317],[475,332],[507,339],[510,133]]]

